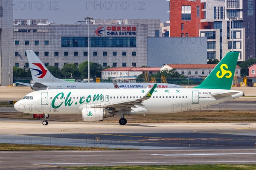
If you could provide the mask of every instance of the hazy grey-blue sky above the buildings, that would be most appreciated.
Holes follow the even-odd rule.
[[[169,20],[166,0],[13,0],[14,19],[49,19],[73,24],[87,16],[97,19]]]

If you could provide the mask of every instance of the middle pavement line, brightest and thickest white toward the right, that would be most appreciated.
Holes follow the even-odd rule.
[[[69,156],[69,157],[76,157],[76,156],[199,156],[199,155],[255,155],[256,153],[158,153],[158,154],[111,154],[111,155],[29,155],[23,157],[55,157],[55,156]]]

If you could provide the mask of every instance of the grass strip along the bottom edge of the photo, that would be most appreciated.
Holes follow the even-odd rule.
[[[255,170],[255,164],[151,165],[111,167],[65,167],[70,170]]]

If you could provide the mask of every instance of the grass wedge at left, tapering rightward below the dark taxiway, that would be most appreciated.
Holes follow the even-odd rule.
[[[74,147],[74,146],[53,146],[41,144],[6,144],[0,143],[0,151],[10,150],[130,150],[131,148],[110,148],[110,147]]]

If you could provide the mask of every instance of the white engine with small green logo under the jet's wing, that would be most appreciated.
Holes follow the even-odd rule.
[[[105,109],[101,108],[83,108],[82,118],[84,122],[102,121],[106,117],[112,117],[112,113],[108,113]]]

